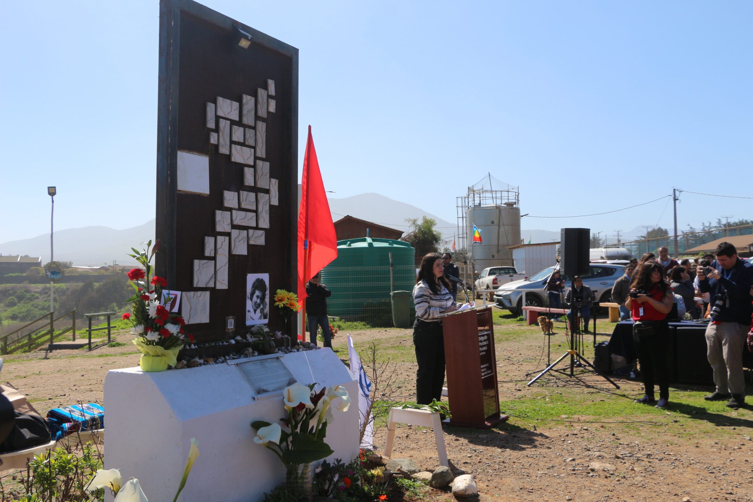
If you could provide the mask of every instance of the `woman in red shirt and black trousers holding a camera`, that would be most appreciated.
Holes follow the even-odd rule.
[[[641,361],[641,376],[646,394],[638,403],[654,403],[654,379],[659,384],[657,408],[669,403],[669,375],[666,371],[666,348],[669,341],[669,323],[666,315],[672,310],[672,290],[664,280],[662,266],[645,263],[636,270],[630,284],[630,297],[625,302],[633,312],[633,339]],[[639,294],[638,292],[641,291]]]

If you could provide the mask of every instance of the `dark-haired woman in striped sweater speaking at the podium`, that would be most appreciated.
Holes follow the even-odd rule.
[[[438,315],[453,312],[457,307],[450,293],[450,283],[444,277],[442,257],[430,253],[421,260],[421,268],[413,286],[416,322],[413,324],[413,345],[416,347],[416,403],[429,404],[442,400],[444,385],[444,336],[442,318]]]

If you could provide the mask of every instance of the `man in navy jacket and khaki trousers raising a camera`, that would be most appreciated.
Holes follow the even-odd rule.
[[[742,350],[751,321],[753,264],[737,257],[735,246],[722,242],[716,247],[711,266],[698,267],[698,285],[710,294],[711,321],[706,328],[706,355],[714,370],[716,390],[708,401],[729,399],[727,406],[745,406]]]

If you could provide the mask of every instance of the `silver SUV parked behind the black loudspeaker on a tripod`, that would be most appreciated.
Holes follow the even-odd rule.
[[[614,281],[617,281],[625,273],[625,267],[611,263],[590,263],[590,269],[589,275],[582,276],[583,283],[591,288],[596,301],[599,303],[611,302],[611,288],[614,286]],[[500,309],[507,309],[513,314],[520,315],[523,305],[523,291],[526,291],[526,306],[548,306],[546,285],[553,271],[554,267],[550,266],[548,269],[541,270],[538,274],[522,281],[502,284],[495,291],[495,303]],[[563,274],[562,278],[569,288],[572,284],[572,277]],[[562,308],[565,308],[564,295],[562,300]]]

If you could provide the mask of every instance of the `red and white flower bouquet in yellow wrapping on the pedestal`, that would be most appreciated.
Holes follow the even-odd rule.
[[[153,248],[149,241],[146,243],[146,251],[131,248],[136,254],[129,254],[141,263],[143,268],[131,269],[127,274],[135,294],[126,300],[126,303],[133,303],[133,308],[132,313],[123,314],[123,319],[130,321],[133,326],[131,334],[136,335],[133,343],[144,354],[140,364],[145,371],[154,371],[148,370],[145,365],[157,364],[157,367],[161,367],[162,361],[165,367],[163,369],[166,369],[167,364],[175,366],[178,362],[178,351],[186,340],[183,318],[170,312],[174,307],[175,298],[167,297],[164,305],[162,302],[162,288],[167,287],[167,281],[158,275],[150,278],[151,258],[159,247],[159,241],[154,243]],[[187,339],[190,342],[194,341],[191,335],[188,335]],[[160,361],[150,360],[149,357],[159,357]]]

